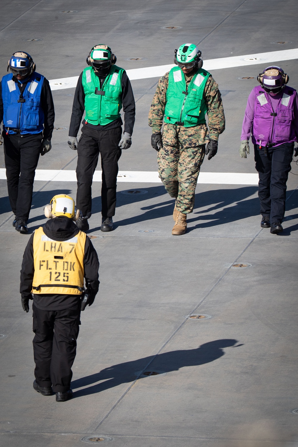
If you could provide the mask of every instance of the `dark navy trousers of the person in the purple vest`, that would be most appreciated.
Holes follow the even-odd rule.
[[[294,143],[285,143],[276,148],[255,148],[256,170],[259,173],[260,214],[269,217],[270,223],[282,222],[285,216],[286,182],[291,170]]]

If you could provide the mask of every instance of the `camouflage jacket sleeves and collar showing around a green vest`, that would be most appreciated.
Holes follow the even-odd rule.
[[[149,126],[152,127],[152,133],[160,132],[163,125],[164,109],[167,102],[166,93],[168,89],[168,76],[166,73],[159,79],[155,95],[149,112]],[[188,86],[193,76],[186,79]],[[209,76],[204,89],[203,98],[207,105],[208,126],[210,139],[218,140],[218,135],[225,130],[225,116],[222,107],[222,97],[218,90],[218,84],[214,81],[212,76]],[[206,124],[199,124],[203,133],[207,134],[208,129]],[[203,129],[204,128],[204,129]],[[190,128],[192,129],[192,128]],[[205,130],[205,131],[204,131]],[[205,135],[206,137],[207,135]],[[203,138],[203,140],[209,139]],[[203,143],[204,141],[202,141]]]

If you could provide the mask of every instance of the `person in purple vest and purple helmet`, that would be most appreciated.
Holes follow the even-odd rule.
[[[261,227],[270,227],[270,233],[277,234],[283,231],[286,182],[294,142],[298,141],[298,97],[295,89],[286,86],[289,76],[280,67],[265,68],[257,79],[261,86],[254,87],[248,97],[239,154],[247,157],[252,135],[259,173]]]

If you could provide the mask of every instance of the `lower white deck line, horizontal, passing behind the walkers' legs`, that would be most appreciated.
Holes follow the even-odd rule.
[[[101,181],[102,171],[95,171],[93,181]],[[5,169],[0,169],[0,179],[6,179]],[[76,171],[59,169],[36,169],[35,181],[74,181]],[[161,183],[158,172],[152,171],[119,171],[117,181],[128,183]],[[198,183],[218,185],[257,185],[258,174],[231,172],[201,172]]]

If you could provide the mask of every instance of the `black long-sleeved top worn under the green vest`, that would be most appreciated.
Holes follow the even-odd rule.
[[[107,76],[107,75],[106,75]],[[106,77],[105,76],[105,77]],[[69,136],[76,137],[78,135],[78,131],[80,128],[80,123],[83,118],[84,110],[85,110],[85,93],[82,84],[83,72],[80,74],[78,83],[76,85],[75,97],[73,99],[72,105],[72,114],[71,114],[71,122],[69,126]],[[105,80],[105,77],[100,78],[101,85]],[[122,87],[122,107],[124,112],[124,132],[132,135],[132,131],[134,128],[134,116],[135,116],[135,103],[134,103],[134,93],[131,88],[130,80],[126,72],[123,72],[121,79],[121,87]],[[106,124],[105,126],[94,126],[93,124],[89,124],[82,122],[83,126],[91,127],[97,131],[107,131],[109,129],[114,129],[115,127],[122,126],[123,122],[121,118],[115,119],[115,121]]]

